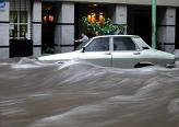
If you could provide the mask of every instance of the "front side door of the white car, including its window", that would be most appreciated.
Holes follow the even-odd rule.
[[[81,59],[99,66],[111,66],[110,37],[94,38],[85,46]]]

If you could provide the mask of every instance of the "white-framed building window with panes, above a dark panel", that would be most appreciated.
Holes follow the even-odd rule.
[[[10,0],[10,38],[31,38],[29,8],[29,0]]]

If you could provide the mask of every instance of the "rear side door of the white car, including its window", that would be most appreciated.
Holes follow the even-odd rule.
[[[141,59],[141,50],[131,37],[112,38],[112,67],[133,68]]]

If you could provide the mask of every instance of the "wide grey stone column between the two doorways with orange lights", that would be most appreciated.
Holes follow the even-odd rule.
[[[74,50],[74,3],[56,4],[55,45],[56,53]]]

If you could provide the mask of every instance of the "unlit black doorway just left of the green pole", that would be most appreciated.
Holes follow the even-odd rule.
[[[128,34],[141,36],[152,45],[152,13],[150,7],[128,7]]]

